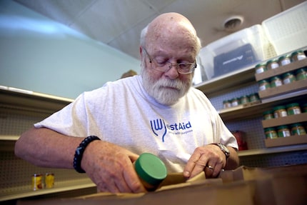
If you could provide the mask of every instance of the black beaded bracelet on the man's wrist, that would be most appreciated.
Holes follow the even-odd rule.
[[[81,168],[81,160],[84,154],[86,146],[88,146],[92,141],[100,140],[98,136],[87,136],[86,139],[81,141],[79,146],[76,148],[74,156],[74,169],[79,173],[85,173],[84,169]]]

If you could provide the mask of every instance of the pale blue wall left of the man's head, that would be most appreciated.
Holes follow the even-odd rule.
[[[74,99],[130,69],[139,73],[139,65],[139,59],[14,1],[0,1],[2,86]]]

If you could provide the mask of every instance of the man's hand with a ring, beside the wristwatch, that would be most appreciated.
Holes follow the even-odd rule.
[[[199,146],[195,149],[191,158],[183,170],[183,175],[192,178],[201,171],[205,171],[206,177],[216,177],[226,166],[226,156],[221,149],[214,145]]]

